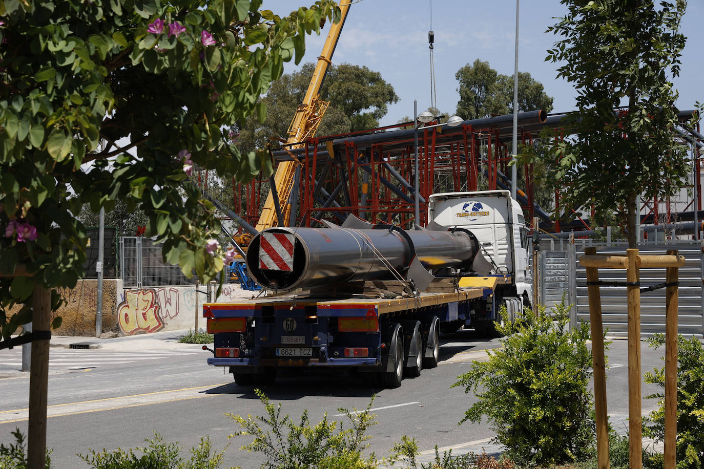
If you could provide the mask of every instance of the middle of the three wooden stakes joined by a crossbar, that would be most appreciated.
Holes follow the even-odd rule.
[[[626,250],[628,270],[628,446],[629,466],[643,467],[643,434],[641,417],[641,274],[639,251]]]

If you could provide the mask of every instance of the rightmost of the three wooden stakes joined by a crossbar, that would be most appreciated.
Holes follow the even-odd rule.
[[[677,256],[676,250],[667,251]],[[677,282],[679,269],[667,268],[667,283]],[[665,300],[665,469],[677,465],[677,307],[679,287],[667,287]]]

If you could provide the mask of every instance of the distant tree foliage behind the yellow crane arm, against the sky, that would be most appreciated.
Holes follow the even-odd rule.
[[[241,130],[241,150],[264,148],[269,139],[287,139],[289,124],[306,96],[314,63],[306,63],[297,72],[283,75],[272,83],[262,99],[267,106],[266,120],[249,120]],[[320,86],[320,99],[329,101],[317,135],[344,134],[379,127],[387,106],[398,101],[394,87],[379,72],[360,65],[330,65]]]

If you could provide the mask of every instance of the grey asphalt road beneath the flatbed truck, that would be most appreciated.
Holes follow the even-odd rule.
[[[429,461],[437,444],[463,451],[496,451],[494,436],[486,423],[458,425],[474,401],[461,388],[451,388],[473,359],[486,356],[484,349],[498,340],[476,340],[472,331],[459,331],[443,338],[441,364],[424,370],[419,378],[407,379],[396,390],[370,387],[366,375],[306,375],[279,378],[264,387],[272,402],[282,405],[282,414],[298,421],[304,409],[311,423],[342,419],[338,409],[364,409],[372,397],[377,424],[372,426],[370,449],[386,456],[402,435],[415,438],[420,461]],[[0,351],[0,363],[10,363],[15,351]],[[76,454],[89,449],[130,449],[144,444],[154,432],[166,442],[188,449],[201,437],[210,437],[216,449],[227,446],[223,467],[258,467],[263,456],[241,451],[251,437],[228,435],[239,430],[225,413],[261,416],[264,407],[251,388],[234,384],[221,368],[206,365],[206,354],[198,345],[168,351],[112,352],[107,350],[51,349],[47,446],[53,449],[52,468],[87,468]],[[617,428],[625,428],[627,416],[626,341],[615,340],[608,352],[608,410]],[[662,366],[663,350],[643,344],[642,369]],[[0,442],[13,442],[11,432],[27,432],[28,377],[5,377],[0,371]],[[657,390],[643,384],[643,396]],[[653,400],[643,399],[643,413],[655,409]]]

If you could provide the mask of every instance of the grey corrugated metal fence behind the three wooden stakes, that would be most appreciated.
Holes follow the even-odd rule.
[[[571,319],[589,321],[589,297],[586,288],[586,269],[579,264],[584,247],[594,246],[600,254],[621,254],[627,243],[591,243],[577,240],[577,244],[541,243],[541,302],[551,307],[562,300],[572,304]],[[703,267],[704,255],[698,241],[673,241],[669,243],[641,243],[639,250],[644,255],[665,254],[667,250],[678,250],[686,259],[679,268],[679,333],[704,333]],[[646,287],[665,282],[665,269],[641,269],[641,285]],[[603,281],[626,281],[625,269],[599,269]],[[610,334],[626,333],[628,323],[627,287],[602,286],[601,310],[603,324]],[[641,293],[641,334],[665,332],[665,288]]]

